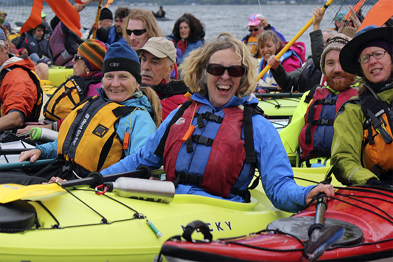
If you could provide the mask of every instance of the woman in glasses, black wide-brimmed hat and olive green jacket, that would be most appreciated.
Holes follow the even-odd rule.
[[[331,165],[345,185],[392,185],[392,34],[392,27],[364,27],[340,52],[360,87],[334,121]]]

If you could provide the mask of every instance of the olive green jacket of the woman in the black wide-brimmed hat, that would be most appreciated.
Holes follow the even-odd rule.
[[[390,103],[393,99],[393,89],[376,95],[381,101]],[[365,117],[359,97],[355,96],[350,100],[342,105],[334,121],[330,161],[334,175],[343,185],[365,184],[367,180],[376,178],[376,176],[370,170],[365,169],[360,162]],[[391,154],[391,152],[388,153]]]

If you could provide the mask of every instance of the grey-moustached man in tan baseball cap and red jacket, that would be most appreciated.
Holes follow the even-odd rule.
[[[141,86],[150,86],[157,92],[162,105],[162,119],[187,101],[189,91],[183,81],[171,78],[176,65],[176,48],[164,37],[151,37],[142,48],[135,50],[141,58]]]

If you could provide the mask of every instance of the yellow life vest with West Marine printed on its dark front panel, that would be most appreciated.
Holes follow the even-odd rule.
[[[91,172],[101,171],[124,158],[115,122],[136,107],[89,98],[64,119],[57,137],[57,155]]]

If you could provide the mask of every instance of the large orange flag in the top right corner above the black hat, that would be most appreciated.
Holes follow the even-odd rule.
[[[382,26],[391,16],[393,16],[393,1],[379,0],[371,7],[358,31],[369,25]]]

